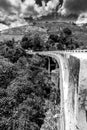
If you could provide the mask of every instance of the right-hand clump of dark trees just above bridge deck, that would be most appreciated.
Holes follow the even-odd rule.
[[[69,28],[64,28],[60,34],[50,34],[46,43],[47,50],[75,50],[82,44],[78,43],[73,37],[72,31]]]

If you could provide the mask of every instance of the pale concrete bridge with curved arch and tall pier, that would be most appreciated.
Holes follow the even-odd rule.
[[[87,50],[30,52],[54,58],[60,68],[60,130],[87,130]]]

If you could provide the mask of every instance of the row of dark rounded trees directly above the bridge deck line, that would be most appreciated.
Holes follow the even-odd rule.
[[[59,34],[49,34],[46,41],[44,41],[38,33],[25,35],[22,38],[21,47],[33,51],[52,51],[82,49],[84,46],[82,43],[78,43],[78,40],[73,36],[69,28],[64,28]]]

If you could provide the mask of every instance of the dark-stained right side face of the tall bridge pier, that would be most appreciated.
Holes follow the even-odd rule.
[[[70,56],[68,59],[69,67],[69,86],[68,86],[68,110],[70,111],[69,129],[77,130],[77,115],[78,115],[78,82],[80,60]]]

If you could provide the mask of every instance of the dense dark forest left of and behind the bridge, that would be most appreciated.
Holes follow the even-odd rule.
[[[47,71],[47,57],[28,55],[27,50],[78,49],[83,46],[63,29],[43,40],[40,34],[24,35],[0,43],[0,130],[57,130],[58,88]],[[46,123],[47,122],[47,123]]]

